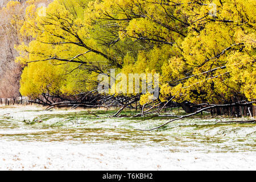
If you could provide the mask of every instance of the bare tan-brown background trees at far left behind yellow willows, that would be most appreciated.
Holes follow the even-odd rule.
[[[18,52],[15,44],[30,42],[31,36],[22,36],[19,32],[24,22],[26,7],[30,3],[36,6],[50,1],[2,1],[0,3],[0,97],[18,97],[19,80],[22,65],[15,63]]]

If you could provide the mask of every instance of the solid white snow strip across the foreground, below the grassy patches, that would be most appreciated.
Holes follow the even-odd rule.
[[[0,170],[255,170],[256,152],[174,153],[168,148],[1,142]]]

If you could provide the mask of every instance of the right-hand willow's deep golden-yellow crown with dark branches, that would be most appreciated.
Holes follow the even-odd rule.
[[[119,27],[119,39],[143,40],[122,71],[159,72],[162,101],[255,98],[255,1],[94,1],[90,9],[92,22]]]

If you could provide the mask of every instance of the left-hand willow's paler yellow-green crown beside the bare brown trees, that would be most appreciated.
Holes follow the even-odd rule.
[[[98,74],[122,68],[122,58],[135,43],[109,43],[115,31],[88,22],[89,2],[56,0],[47,7],[46,16],[34,4],[27,7],[20,33],[33,40],[16,47],[20,52],[16,61],[25,65],[20,81],[23,95],[86,92],[97,87]]]

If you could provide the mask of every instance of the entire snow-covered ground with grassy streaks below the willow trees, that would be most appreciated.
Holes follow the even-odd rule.
[[[255,125],[183,121],[158,133],[139,133],[131,128],[154,121],[97,121],[82,114],[75,120],[84,124],[50,126],[75,112],[0,107],[0,170],[256,169]],[[39,116],[43,123],[23,122]]]

